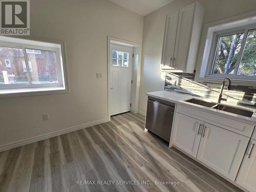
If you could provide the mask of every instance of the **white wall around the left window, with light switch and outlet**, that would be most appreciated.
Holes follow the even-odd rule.
[[[107,0],[30,6],[31,35],[66,41],[70,92],[0,99],[0,146],[108,118],[107,36],[142,41],[143,17]]]

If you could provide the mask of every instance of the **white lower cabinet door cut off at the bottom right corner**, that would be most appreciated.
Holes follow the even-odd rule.
[[[237,183],[251,192],[256,192],[256,140],[251,139],[238,174]]]

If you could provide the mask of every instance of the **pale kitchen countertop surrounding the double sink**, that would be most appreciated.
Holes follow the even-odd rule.
[[[229,112],[220,111],[220,110],[208,108],[207,106],[202,106],[202,105],[189,103],[189,102],[185,101],[185,100],[188,100],[188,99],[191,99],[191,98],[197,98],[197,99],[205,100],[205,101],[208,101],[208,102],[216,102],[215,100],[204,99],[202,97],[197,97],[197,96],[193,96],[193,95],[181,94],[181,93],[172,92],[172,91],[156,91],[156,92],[150,92],[150,93],[146,93],[146,94],[148,96],[151,96],[151,97],[155,97],[155,98],[162,99],[162,100],[165,100],[165,101],[170,101],[170,102],[182,104],[182,105],[185,105],[185,106],[189,106],[190,108],[193,108],[193,109],[205,111],[207,113],[212,113],[212,114],[220,115],[222,117],[226,117],[226,118],[229,118],[229,119],[233,119],[233,120],[241,121],[241,122],[244,122],[244,123],[256,125],[256,112],[252,109],[245,108],[244,106],[221,103],[221,104],[232,106],[232,107],[238,108],[238,109],[245,109],[245,110],[248,110],[248,111],[254,111],[252,117],[245,117],[245,116],[241,116],[241,115],[237,115],[237,114],[232,114],[232,113],[229,113]]]

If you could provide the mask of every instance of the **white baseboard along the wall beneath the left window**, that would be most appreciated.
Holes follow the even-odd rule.
[[[11,148],[15,148],[15,147],[18,147],[18,146],[34,143],[34,142],[37,142],[37,141],[41,141],[41,140],[44,140],[44,139],[49,139],[51,137],[56,137],[56,136],[59,136],[59,135],[70,133],[70,132],[73,132],[73,131],[81,130],[81,129],[84,129],[86,127],[90,127],[90,126],[97,125],[97,124],[100,124],[100,123],[105,123],[105,122],[108,122],[108,121],[109,121],[108,118],[105,118],[105,119],[93,121],[93,122],[90,122],[90,123],[85,123],[85,124],[69,127],[69,128],[63,129],[63,130],[56,131],[56,132],[47,133],[47,134],[44,134],[44,135],[31,137],[31,138],[28,138],[28,139],[24,139],[24,140],[12,142],[12,143],[4,144],[4,145],[0,146],[0,152],[10,150]]]

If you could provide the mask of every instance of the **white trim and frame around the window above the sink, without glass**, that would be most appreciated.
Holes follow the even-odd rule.
[[[237,27],[233,28],[233,26]],[[248,28],[256,28],[256,11],[206,24],[201,39],[195,80],[198,82],[221,83],[225,77],[229,77],[232,80],[232,84],[255,86],[256,78],[254,76],[209,74],[214,62],[212,60],[215,57],[217,35],[227,32],[239,32]],[[247,34],[245,35],[247,36]]]

